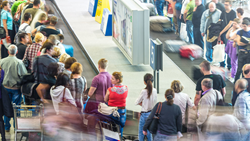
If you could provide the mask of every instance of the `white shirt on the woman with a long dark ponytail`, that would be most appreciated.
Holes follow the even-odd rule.
[[[149,98],[148,98],[148,90],[143,89],[141,91],[140,96],[135,101],[135,105],[139,105],[140,103],[142,103],[142,106],[141,106],[142,112],[148,112],[148,111],[152,110],[154,108],[155,104],[157,103],[157,91],[156,91],[156,89],[153,88],[152,94]]]

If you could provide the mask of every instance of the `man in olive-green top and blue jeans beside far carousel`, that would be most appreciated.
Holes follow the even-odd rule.
[[[187,7],[183,15],[184,22],[187,25],[186,30],[187,30],[187,35],[189,38],[189,43],[191,44],[194,43],[193,23],[192,23],[194,7],[195,7],[195,0],[190,0],[190,2],[187,4]]]

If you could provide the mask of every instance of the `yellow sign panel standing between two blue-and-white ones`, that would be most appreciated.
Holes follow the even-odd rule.
[[[108,8],[108,10],[110,11],[109,0],[98,0],[95,14],[95,21],[97,21],[98,23],[102,23],[102,14],[104,8]]]

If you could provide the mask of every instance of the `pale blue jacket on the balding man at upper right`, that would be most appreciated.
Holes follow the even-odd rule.
[[[211,16],[213,23],[217,23],[219,21],[220,15],[221,15],[221,11],[219,9],[216,9],[215,13]],[[209,9],[204,11],[201,16],[201,26],[200,26],[201,33],[205,33],[208,17],[209,17]]]

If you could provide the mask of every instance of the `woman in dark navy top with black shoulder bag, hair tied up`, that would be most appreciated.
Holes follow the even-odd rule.
[[[179,138],[177,133],[179,134],[182,128],[182,114],[180,107],[174,104],[174,96],[174,90],[166,90],[166,101],[162,103],[159,115],[158,131],[154,137],[155,141],[177,141],[177,138]],[[158,104],[155,105],[145,125],[143,126],[144,135],[147,135],[147,129],[153,120]]]

